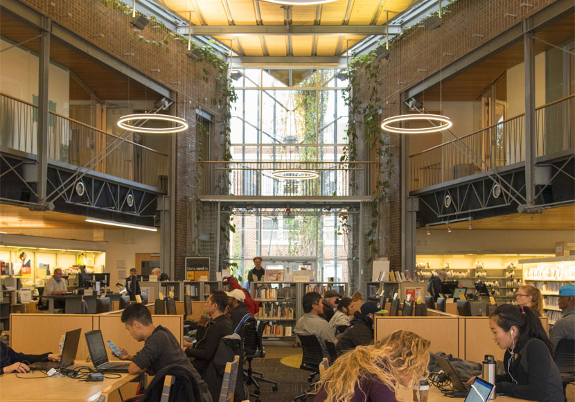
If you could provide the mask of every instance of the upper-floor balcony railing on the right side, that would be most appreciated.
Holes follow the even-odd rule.
[[[575,95],[536,108],[536,157],[575,146]],[[425,189],[525,160],[525,115],[409,157],[409,190]]]

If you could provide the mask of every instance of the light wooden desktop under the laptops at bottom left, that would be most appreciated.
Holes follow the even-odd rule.
[[[121,378],[104,378],[98,383],[84,383],[75,378],[51,378],[42,372],[26,374],[3,374],[0,376],[0,401],[2,402],[100,402],[107,401],[121,386],[129,383],[136,374],[122,373]],[[42,378],[44,377],[44,378]],[[25,378],[34,378],[25,379]],[[117,394],[117,392],[116,392]],[[100,397],[101,396],[101,397]],[[131,395],[123,395],[128,397]]]

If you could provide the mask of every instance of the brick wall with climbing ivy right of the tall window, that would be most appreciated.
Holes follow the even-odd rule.
[[[473,49],[497,37],[508,28],[533,15],[553,0],[459,0],[445,8],[442,26],[431,30],[423,24],[408,29],[390,46],[389,58],[379,61],[378,91],[382,119],[406,112],[401,103],[405,89],[416,85]],[[476,35],[477,34],[477,35]],[[482,36],[479,36],[482,35]],[[450,53],[450,55],[445,55]],[[425,70],[425,71],[421,71]],[[354,88],[356,95],[368,99],[371,87]],[[361,131],[361,128],[358,128]],[[389,204],[380,209],[380,256],[389,256],[391,269],[401,268],[401,184],[400,157],[405,141],[398,134],[384,134],[393,152],[393,175]],[[360,137],[361,138],[361,137]],[[371,182],[373,189],[372,176]]]

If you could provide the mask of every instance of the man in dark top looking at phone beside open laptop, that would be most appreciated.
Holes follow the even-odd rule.
[[[190,370],[200,385],[203,402],[212,402],[208,385],[197,374],[186,353],[179,346],[179,342],[169,329],[161,325],[155,326],[152,323],[152,314],[143,304],[130,304],[122,312],[121,320],[132,338],[138,342],[144,342],[143,348],[134,356],[127,353],[126,349],[119,348],[122,354],[114,356],[121,360],[132,360],[128,372],[130,374],[141,374],[146,372],[150,376],[155,375],[163,367],[171,365],[184,366]]]

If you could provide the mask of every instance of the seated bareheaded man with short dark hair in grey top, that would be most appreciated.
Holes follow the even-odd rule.
[[[328,358],[329,353],[324,342],[337,343],[330,324],[320,317],[324,312],[324,304],[321,303],[321,295],[318,292],[308,292],[301,300],[304,315],[297,320],[294,328],[296,335],[315,335],[321,345],[324,357]]]

